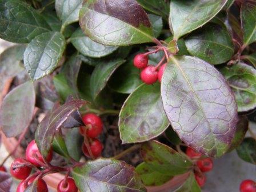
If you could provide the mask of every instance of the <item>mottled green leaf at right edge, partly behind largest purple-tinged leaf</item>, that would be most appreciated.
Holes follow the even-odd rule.
[[[221,73],[234,91],[238,111],[249,111],[256,107],[256,70],[245,63],[224,67]]]

